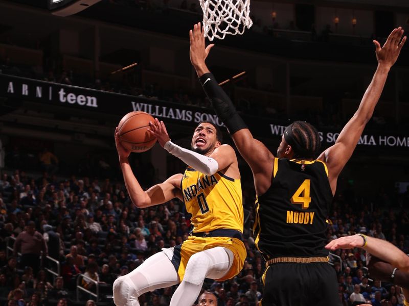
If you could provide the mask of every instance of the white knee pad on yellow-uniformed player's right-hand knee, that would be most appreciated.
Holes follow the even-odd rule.
[[[206,278],[210,266],[210,259],[206,253],[193,254],[186,265],[184,282],[200,285]]]

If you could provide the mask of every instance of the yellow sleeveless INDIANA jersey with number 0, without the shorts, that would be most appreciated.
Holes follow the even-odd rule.
[[[243,232],[243,201],[240,180],[220,171],[205,175],[188,167],[181,182],[183,199],[192,214],[193,232],[229,228]]]

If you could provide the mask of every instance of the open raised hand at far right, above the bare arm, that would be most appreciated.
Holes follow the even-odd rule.
[[[394,29],[389,35],[387,41],[380,47],[378,41],[374,40],[373,43],[376,47],[376,58],[379,64],[383,64],[388,68],[392,67],[398,59],[400,50],[406,41],[406,36],[402,38],[403,29],[399,27]]]

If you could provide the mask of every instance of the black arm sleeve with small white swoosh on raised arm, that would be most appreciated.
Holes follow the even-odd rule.
[[[239,116],[232,100],[219,86],[212,73],[205,73],[200,78],[200,83],[210,99],[217,116],[223,121],[230,134],[247,129],[247,125]]]

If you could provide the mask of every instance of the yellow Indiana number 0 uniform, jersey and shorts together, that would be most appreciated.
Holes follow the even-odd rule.
[[[170,252],[170,249],[163,249],[175,267],[180,282],[193,254],[219,246],[230,249],[234,260],[230,270],[216,281],[234,277],[243,268],[247,255],[241,241],[243,205],[240,180],[221,172],[205,175],[188,167],[181,181],[181,189],[186,210],[192,214],[193,234],[171,248]]]

